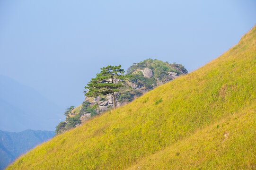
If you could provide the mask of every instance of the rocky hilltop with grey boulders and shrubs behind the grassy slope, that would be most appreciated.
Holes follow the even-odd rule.
[[[125,81],[125,86],[120,88],[119,92],[115,92],[116,107],[131,102],[158,85],[167,83],[178,76],[186,75],[187,70],[181,64],[163,62],[158,59],[145,59],[132,64],[126,74],[132,75],[132,77]],[[114,83],[119,81],[119,79],[114,79]],[[90,117],[112,107],[112,94],[100,95],[95,98],[85,96],[84,102],[70,111],[65,122],[58,125],[56,133],[77,127]]]

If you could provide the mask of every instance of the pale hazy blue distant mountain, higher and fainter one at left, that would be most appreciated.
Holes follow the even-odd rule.
[[[62,111],[35,89],[0,75],[0,130],[53,130]]]

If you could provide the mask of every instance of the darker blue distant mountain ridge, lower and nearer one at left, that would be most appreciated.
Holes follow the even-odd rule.
[[[21,153],[26,153],[53,136],[53,131],[25,130],[15,133],[0,130],[0,170],[3,170]]]

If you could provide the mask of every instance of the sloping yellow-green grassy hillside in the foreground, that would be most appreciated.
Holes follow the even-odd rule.
[[[202,68],[85,122],[8,169],[256,169],[256,26]]]

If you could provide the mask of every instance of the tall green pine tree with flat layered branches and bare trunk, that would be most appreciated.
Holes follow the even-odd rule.
[[[88,89],[88,91],[84,93],[88,97],[97,97],[100,94],[112,94],[115,109],[115,92],[118,92],[119,88],[124,86],[122,82],[128,76],[124,75],[124,69],[121,68],[121,65],[107,66],[100,69],[100,73],[91,79],[87,84],[88,86],[85,86],[85,89]],[[115,82],[114,80],[118,81]]]

